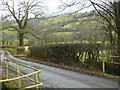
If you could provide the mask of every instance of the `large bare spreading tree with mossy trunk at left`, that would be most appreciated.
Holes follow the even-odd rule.
[[[27,25],[30,19],[43,16],[44,4],[41,0],[2,0],[1,10],[8,12],[7,17],[15,20],[16,25],[10,26],[18,32],[19,45],[24,45],[25,34],[29,33]]]

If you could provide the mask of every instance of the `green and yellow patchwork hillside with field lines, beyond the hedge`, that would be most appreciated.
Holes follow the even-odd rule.
[[[26,44],[34,43],[52,43],[52,42],[80,42],[80,41],[101,41],[102,38],[96,29],[99,18],[97,14],[74,13],[55,17],[47,17],[44,19],[32,19],[28,22],[28,32],[26,34]],[[13,22],[13,21],[12,21]],[[12,25],[16,25],[14,22]],[[14,32],[11,29],[5,30],[5,33]],[[8,36],[9,41],[13,40],[14,35]],[[103,35],[103,34],[102,34]],[[16,40],[17,37],[14,37]],[[29,43],[28,43],[29,42]],[[17,44],[17,43],[16,43]]]

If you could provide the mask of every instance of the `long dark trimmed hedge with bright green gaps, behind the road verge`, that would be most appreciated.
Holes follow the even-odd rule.
[[[116,50],[116,46],[102,44],[46,44],[30,46],[28,56],[39,60],[102,70],[102,63],[98,61],[113,60],[113,58],[108,59],[106,56],[116,55]],[[118,61],[118,59],[115,58],[114,61]],[[107,66],[109,65],[107,64]],[[118,66],[117,68],[112,66],[112,68],[120,71]],[[108,69],[108,71],[110,70]]]

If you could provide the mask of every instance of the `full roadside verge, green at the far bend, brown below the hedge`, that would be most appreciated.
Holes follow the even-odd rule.
[[[27,49],[28,49],[28,47],[27,47]],[[16,56],[20,59],[28,60],[28,61],[38,62],[38,63],[45,64],[45,65],[55,66],[55,67],[59,67],[59,68],[67,69],[67,70],[78,71],[78,72],[81,72],[81,73],[91,74],[91,75],[95,75],[95,76],[102,76],[102,77],[107,77],[107,78],[112,78],[112,79],[119,79],[120,78],[120,76],[117,76],[117,75],[106,74],[106,73],[102,73],[101,71],[92,70],[92,69],[80,68],[79,66],[65,65],[64,63],[56,64],[54,62],[48,62],[48,61],[45,61],[45,60],[37,60],[35,58],[28,58],[28,57],[26,57],[25,54],[18,54],[17,51],[14,48],[10,48],[10,49],[9,48],[4,48],[4,50],[9,50],[9,51],[11,51],[11,53],[14,56]],[[104,51],[102,54],[106,55],[107,52]],[[104,60],[106,61],[106,58],[104,58]]]

